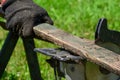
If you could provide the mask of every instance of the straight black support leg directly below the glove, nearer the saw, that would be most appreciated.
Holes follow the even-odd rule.
[[[26,57],[28,61],[31,79],[43,80],[39,69],[37,54],[33,51],[33,49],[35,48],[34,40],[23,38],[23,43],[26,51]]]

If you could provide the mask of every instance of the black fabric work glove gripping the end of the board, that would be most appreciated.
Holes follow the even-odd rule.
[[[33,27],[40,23],[53,24],[47,11],[32,0],[6,0],[2,9],[6,28],[22,37],[34,37]]]

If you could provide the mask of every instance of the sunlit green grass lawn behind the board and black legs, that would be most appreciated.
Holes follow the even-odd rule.
[[[35,0],[44,7],[54,21],[54,25],[78,37],[94,39],[99,18],[107,18],[110,29],[120,31],[120,0]],[[7,31],[0,29],[2,47]],[[35,40],[36,47],[51,48],[56,45]],[[54,80],[53,69],[45,62],[48,58],[38,54],[41,73],[45,80]],[[1,80],[30,80],[21,39]]]

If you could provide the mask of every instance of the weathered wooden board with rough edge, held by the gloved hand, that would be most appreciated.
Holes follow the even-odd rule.
[[[120,75],[119,54],[95,45],[93,41],[81,39],[49,24],[44,23],[34,27],[34,32],[38,37],[57,44]]]

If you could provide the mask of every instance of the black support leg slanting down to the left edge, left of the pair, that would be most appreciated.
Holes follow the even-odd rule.
[[[12,52],[16,46],[17,41],[18,36],[14,35],[12,32],[9,32],[5,40],[5,43],[2,47],[2,50],[0,52],[0,78],[2,77],[6,65],[8,64],[8,61],[12,55]]]

